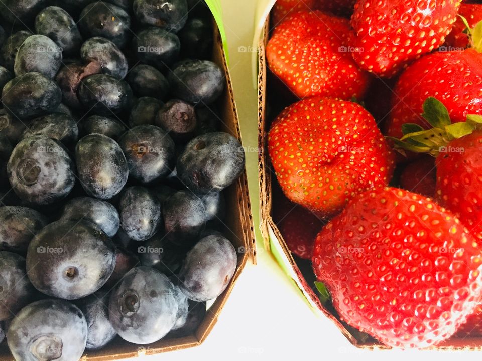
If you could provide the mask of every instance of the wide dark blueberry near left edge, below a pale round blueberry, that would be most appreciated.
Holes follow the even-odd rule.
[[[57,84],[40,73],[22,74],[9,81],[2,92],[2,103],[9,114],[29,119],[48,114],[62,101]]]

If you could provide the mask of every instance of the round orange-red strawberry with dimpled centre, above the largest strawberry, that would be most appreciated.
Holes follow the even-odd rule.
[[[372,115],[338,99],[314,97],[286,108],[271,125],[268,151],[286,197],[320,217],[387,185],[393,172],[393,152]]]

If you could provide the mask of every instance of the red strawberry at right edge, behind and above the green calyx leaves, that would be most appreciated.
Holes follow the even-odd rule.
[[[453,122],[464,121],[467,114],[482,114],[482,55],[473,49],[437,52],[408,67],[395,86],[386,134],[400,138],[405,123],[428,128],[420,114],[429,96],[445,104]]]

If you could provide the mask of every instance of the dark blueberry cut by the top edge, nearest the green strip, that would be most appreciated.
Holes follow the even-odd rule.
[[[142,25],[154,25],[177,33],[187,20],[186,0],[134,0],[134,14]]]

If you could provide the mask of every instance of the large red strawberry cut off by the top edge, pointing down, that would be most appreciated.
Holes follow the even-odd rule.
[[[360,67],[392,77],[450,33],[460,0],[358,0],[351,17]]]

